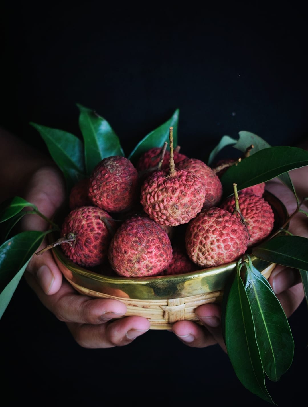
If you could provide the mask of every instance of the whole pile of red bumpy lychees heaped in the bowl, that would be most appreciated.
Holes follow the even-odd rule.
[[[232,262],[269,236],[274,214],[258,184],[222,201],[220,177],[173,147],[146,151],[136,166],[101,160],[70,191],[61,227],[64,254],[82,267],[123,277],[184,274]]]

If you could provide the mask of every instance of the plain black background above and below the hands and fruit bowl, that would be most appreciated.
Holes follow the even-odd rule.
[[[306,17],[296,2],[6,4],[0,125],[47,152],[29,122],[80,135],[80,103],[108,120],[128,155],[179,108],[179,144],[190,157],[207,157],[241,130],[294,145],[308,131]],[[267,383],[279,406],[306,396],[305,302],[290,325],[293,364]],[[80,348],[23,280],[0,332],[2,396],[12,404],[268,405],[218,346],[191,349],[151,330],[123,348]]]

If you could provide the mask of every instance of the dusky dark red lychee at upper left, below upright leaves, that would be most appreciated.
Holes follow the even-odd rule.
[[[92,203],[107,212],[128,210],[138,197],[138,171],[130,160],[118,155],[99,162],[89,184]]]

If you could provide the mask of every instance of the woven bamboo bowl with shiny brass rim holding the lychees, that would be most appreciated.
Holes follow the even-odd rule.
[[[288,218],[282,202],[268,191],[264,199],[273,208],[273,232]],[[151,329],[170,329],[179,320],[197,321],[194,311],[202,304],[220,302],[223,289],[236,261],[218,267],[202,269],[187,274],[127,278],[103,275],[87,270],[70,261],[59,246],[53,248],[55,261],[68,282],[83,295],[95,298],[113,298],[127,306],[125,315],[139,315],[150,320]],[[251,255],[255,268],[269,278],[275,267]]]

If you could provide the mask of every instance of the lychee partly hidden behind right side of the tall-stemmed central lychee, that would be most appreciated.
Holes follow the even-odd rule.
[[[193,171],[200,177],[205,185],[205,201],[203,208],[217,206],[222,197],[222,184],[220,179],[205,162],[195,158],[187,158],[176,164],[176,169]]]

